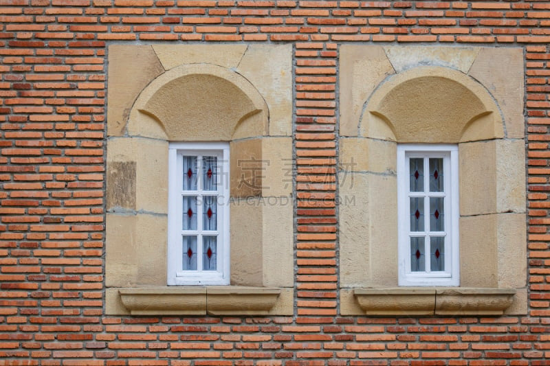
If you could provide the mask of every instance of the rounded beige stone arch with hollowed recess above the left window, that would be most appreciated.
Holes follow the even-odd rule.
[[[232,141],[267,135],[268,119],[262,95],[239,73],[190,64],[166,71],[140,93],[126,133],[168,141]]]

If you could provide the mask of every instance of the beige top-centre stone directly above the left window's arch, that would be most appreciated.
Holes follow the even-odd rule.
[[[231,69],[237,67],[246,45],[153,45],[164,69],[184,64],[213,64]]]

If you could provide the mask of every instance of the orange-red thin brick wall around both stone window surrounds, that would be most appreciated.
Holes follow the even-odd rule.
[[[107,46],[292,43],[294,317],[107,317]],[[525,49],[529,314],[338,316],[342,43]],[[0,365],[550,365],[548,1],[0,1]]]

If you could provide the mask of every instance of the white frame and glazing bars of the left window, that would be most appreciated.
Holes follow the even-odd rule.
[[[217,156],[217,270],[200,271],[202,243],[197,238],[197,271],[184,271],[182,258],[184,248],[182,236],[188,231],[181,227],[183,199],[185,195],[196,195],[197,191],[183,190],[184,155]],[[199,161],[201,159],[198,159]],[[201,164],[201,163],[200,163]],[[200,166],[200,165],[199,165]],[[170,142],[168,145],[168,286],[182,285],[228,285],[230,283],[230,217],[229,217],[229,143],[223,142]],[[202,179],[197,170],[197,179]],[[199,184],[199,187],[201,183]],[[154,189],[154,187],[151,187]],[[199,191],[201,192],[201,191]],[[203,191],[210,193],[210,191]],[[201,196],[202,192],[199,193]],[[198,200],[200,201],[200,200]],[[197,204],[197,231],[202,235],[200,203]],[[195,232],[197,232],[195,231]]]

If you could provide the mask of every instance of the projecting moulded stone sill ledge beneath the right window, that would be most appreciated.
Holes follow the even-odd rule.
[[[502,315],[514,288],[355,288],[367,315]]]

